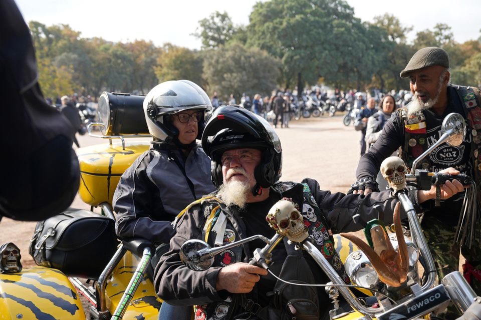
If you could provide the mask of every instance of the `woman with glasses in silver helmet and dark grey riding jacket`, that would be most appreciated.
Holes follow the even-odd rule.
[[[188,80],[158,84],[143,107],[152,146],[122,174],[113,206],[118,236],[146,238],[157,246],[151,260],[155,267],[175,233],[171,225],[175,216],[215,189],[210,159],[195,141],[212,107],[207,94]]]

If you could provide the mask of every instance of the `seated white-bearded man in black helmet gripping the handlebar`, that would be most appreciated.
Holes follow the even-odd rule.
[[[281,297],[275,292],[281,290],[283,282],[247,263],[255,248],[265,246],[262,240],[224,250],[203,271],[182,264],[181,245],[193,238],[213,247],[256,234],[272,237],[275,231],[266,222],[266,214],[278,200],[290,198],[302,208],[304,224],[315,239],[313,244],[346,279],[334,250],[333,232],[359,229],[352,215],[359,213],[368,221],[377,216],[372,210],[374,204],[381,204],[386,220],[392,220],[397,200],[390,191],[368,196],[331,194],[309,178],[302,183],[278,181],[282,148],[276,132],[264,118],[236,105],[220,106],[211,114],[202,134],[202,147],[213,161],[212,181],[219,189],[191,203],[177,216],[171,250],[156,267],[157,294],[170,304],[195,304],[198,319],[321,318],[321,310],[327,311],[330,304],[323,287],[294,286],[284,290]],[[460,190],[459,182],[443,186],[446,195]],[[412,197],[416,196],[414,192]],[[270,270],[283,279],[311,284],[329,281],[312,257],[304,250],[295,250],[287,238],[272,251],[272,260]],[[301,299],[312,303],[296,304]]]

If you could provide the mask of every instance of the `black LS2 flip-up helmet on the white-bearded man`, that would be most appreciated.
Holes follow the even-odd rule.
[[[262,151],[261,163],[254,176],[257,184],[253,194],[261,187],[274,184],[282,175],[282,147],[277,133],[261,116],[236,104],[221,105],[207,119],[202,134],[202,148],[213,161],[212,182],[222,182],[222,153],[229,149],[248,147]]]

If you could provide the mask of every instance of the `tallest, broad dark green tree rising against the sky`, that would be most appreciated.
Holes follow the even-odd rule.
[[[286,87],[303,88],[320,77],[336,87],[360,86],[389,49],[383,32],[354,17],[343,0],[258,2],[250,21],[247,44],[280,58]]]

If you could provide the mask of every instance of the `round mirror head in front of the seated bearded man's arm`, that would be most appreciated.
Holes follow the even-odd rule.
[[[180,260],[189,269],[194,271],[207,270],[214,263],[214,257],[208,251],[210,245],[197,239],[190,239],[180,247]]]

